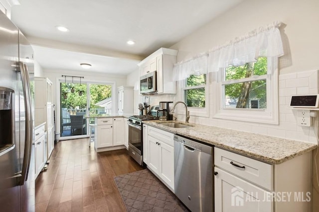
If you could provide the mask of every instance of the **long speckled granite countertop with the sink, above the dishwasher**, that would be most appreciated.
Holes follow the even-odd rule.
[[[189,128],[166,127],[157,124],[165,123],[165,121],[160,122],[159,120],[143,121],[143,123],[271,164],[283,163],[317,147],[316,143],[293,141],[194,123],[189,123],[193,126]]]

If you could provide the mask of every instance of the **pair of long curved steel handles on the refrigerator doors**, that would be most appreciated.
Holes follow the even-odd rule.
[[[20,185],[24,185],[28,177],[31,149],[32,149],[32,109],[31,109],[31,92],[29,85],[29,74],[27,72],[27,66],[22,62],[18,62],[21,73],[21,81],[24,95],[25,106],[25,144],[24,144],[24,156],[22,163],[22,172],[20,178]]]

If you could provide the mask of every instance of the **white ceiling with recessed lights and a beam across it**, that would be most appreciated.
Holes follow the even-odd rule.
[[[90,71],[127,74],[241,1],[20,0],[11,20],[44,69],[77,71],[80,63],[90,63]],[[70,31],[57,31],[57,25]]]

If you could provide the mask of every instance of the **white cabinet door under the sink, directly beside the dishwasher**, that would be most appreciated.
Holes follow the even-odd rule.
[[[174,190],[174,147],[160,142],[160,177]]]

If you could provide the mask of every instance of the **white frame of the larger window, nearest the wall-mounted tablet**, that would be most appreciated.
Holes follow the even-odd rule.
[[[264,124],[279,124],[278,105],[278,58],[267,58],[268,73],[261,76],[252,76],[244,79],[225,80],[225,69],[218,72],[218,106],[214,111],[213,118],[228,119],[245,122]],[[237,82],[266,79],[267,108],[225,108],[224,85]]]

